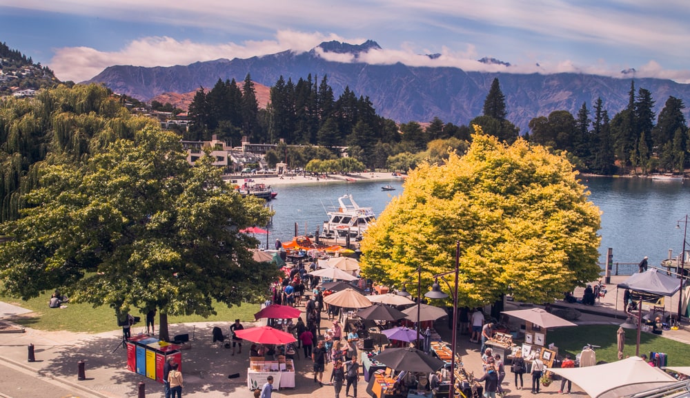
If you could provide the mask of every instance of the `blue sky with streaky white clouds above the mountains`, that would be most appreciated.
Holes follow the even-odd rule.
[[[110,65],[188,65],[368,39],[382,50],[320,55],[690,83],[687,0],[0,0],[0,41],[62,81]],[[511,65],[477,61],[484,57]]]

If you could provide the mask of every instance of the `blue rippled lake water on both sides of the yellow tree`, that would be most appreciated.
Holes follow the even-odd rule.
[[[297,234],[313,234],[327,219],[326,209],[337,206],[337,198],[351,193],[357,204],[372,207],[380,214],[393,196],[402,193],[403,180],[380,182],[330,182],[322,185],[278,186],[278,196],[270,202],[276,214],[270,227],[270,245],[275,238],[289,242]],[[382,191],[390,183],[395,191]],[[590,199],[602,211],[600,262],[607,248],[613,261],[637,263],[647,255],[650,265],[668,258],[669,249],[682,249],[685,215],[690,212],[690,184],[649,178],[582,177],[591,191]],[[676,229],[680,220],[680,229]],[[263,235],[257,236],[266,242]],[[690,245],[686,248],[690,250]],[[621,269],[624,267],[621,266]],[[636,266],[628,266],[634,269]],[[622,273],[629,273],[622,272]]]

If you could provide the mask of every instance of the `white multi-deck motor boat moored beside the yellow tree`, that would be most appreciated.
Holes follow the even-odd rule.
[[[343,195],[338,198],[338,207],[326,211],[328,221],[324,221],[323,233],[329,235],[347,236],[358,238],[366,231],[369,224],[376,220],[371,207],[359,207],[352,195]]]

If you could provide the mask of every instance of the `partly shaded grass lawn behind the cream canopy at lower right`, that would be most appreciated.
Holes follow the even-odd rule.
[[[560,328],[546,333],[546,341],[558,347],[558,354],[565,356],[569,353],[573,359],[575,355],[582,351],[586,344],[601,346],[595,348],[597,362],[618,361],[618,336],[616,332],[618,326],[615,325],[585,325],[574,328]],[[637,331],[635,329],[625,329],[624,356],[635,355],[637,342]],[[668,355],[668,366],[690,366],[690,345],[666,337],[642,332],[640,334],[640,355],[650,352],[666,353]]]

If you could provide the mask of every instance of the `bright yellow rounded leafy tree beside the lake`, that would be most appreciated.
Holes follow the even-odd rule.
[[[475,127],[466,155],[410,172],[362,240],[362,273],[408,291],[455,269],[460,242],[462,305],[550,302],[598,277],[600,211],[571,163],[519,139]]]

